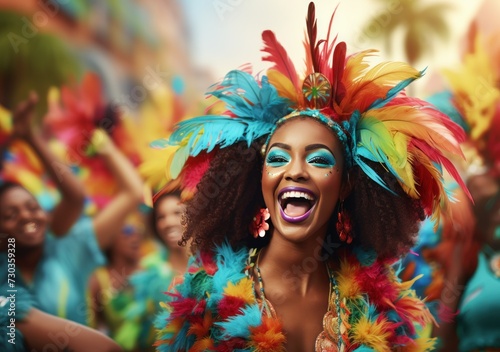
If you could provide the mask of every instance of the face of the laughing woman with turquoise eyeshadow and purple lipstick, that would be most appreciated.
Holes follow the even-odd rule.
[[[301,242],[324,236],[339,199],[343,147],[329,127],[296,117],[271,137],[262,193],[275,232]]]

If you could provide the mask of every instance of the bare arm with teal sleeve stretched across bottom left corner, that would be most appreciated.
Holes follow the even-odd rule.
[[[29,292],[23,287],[12,293],[5,283],[0,290],[9,293],[9,296],[0,296],[2,352],[121,351],[113,340],[98,331],[34,308]]]

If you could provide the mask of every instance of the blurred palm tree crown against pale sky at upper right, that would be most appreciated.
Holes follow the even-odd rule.
[[[403,31],[404,52],[412,65],[424,55],[430,54],[434,39],[447,40],[450,27],[444,14],[453,9],[450,4],[422,4],[420,0],[378,0],[384,5],[363,27],[363,40],[373,39],[385,43],[388,53],[392,51],[393,36]]]

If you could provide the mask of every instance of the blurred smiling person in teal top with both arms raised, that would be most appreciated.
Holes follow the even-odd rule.
[[[92,271],[103,264],[108,248],[127,214],[143,196],[142,180],[132,164],[103,133],[93,137],[95,149],[116,177],[119,190],[109,205],[93,218],[82,217],[83,185],[47,148],[34,126],[36,95],[16,108],[10,141],[22,139],[37,154],[61,192],[52,213],[43,210],[36,197],[16,183],[0,185],[0,282],[11,270],[7,262],[8,240],[15,241],[16,287],[32,295],[41,311],[81,324],[86,323],[85,292]],[[9,274],[11,272],[9,271]],[[0,295],[5,295],[0,292]]]

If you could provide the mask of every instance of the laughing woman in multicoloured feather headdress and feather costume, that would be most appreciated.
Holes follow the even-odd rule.
[[[266,74],[229,72],[210,92],[224,113],[168,140],[169,174],[194,192],[183,241],[196,254],[158,316],[159,351],[433,346],[394,264],[448,202],[439,166],[463,184],[442,152],[461,153],[462,130],[405,95],[421,72],[317,40],[313,3],[306,24],[305,77],[264,31]]]

